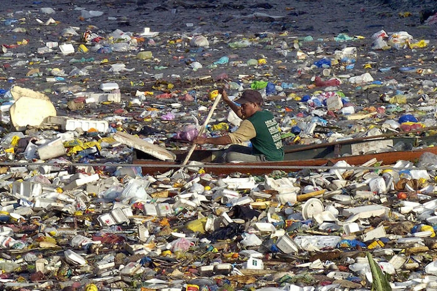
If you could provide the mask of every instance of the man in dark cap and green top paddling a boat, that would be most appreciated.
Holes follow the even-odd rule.
[[[241,107],[233,103],[222,90],[222,100],[231,107],[239,118],[243,119],[239,128],[232,133],[216,138],[198,137],[194,143],[203,145],[231,145],[216,162],[261,162],[281,161],[284,159],[281,133],[273,114],[261,109],[263,98],[258,91],[245,90],[243,95],[235,100]],[[250,140],[252,148],[236,145]]]

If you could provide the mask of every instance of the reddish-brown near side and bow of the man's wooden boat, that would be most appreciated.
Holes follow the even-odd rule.
[[[323,148],[322,148],[323,149]],[[325,149],[326,150],[326,149]],[[204,162],[204,170],[207,173],[214,174],[229,174],[233,172],[240,173],[251,173],[251,174],[267,174],[271,173],[273,170],[284,170],[287,172],[297,171],[302,169],[302,167],[308,166],[330,166],[334,163],[345,160],[350,165],[360,166],[371,159],[377,159],[378,161],[382,161],[382,165],[390,165],[394,164],[400,159],[415,161],[420,158],[420,156],[425,152],[432,152],[437,154],[437,147],[427,147],[423,149],[417,150],[409,150],[409,151],[397,151],[397,152],[380,152],[380,153],[370,153],[364,155],[354,155],[354,156],[339,156],[339,157],[323,157],[323,158],[305,158],[305,155],[309,155],[306,153],[305,155],[301,154],[301,152],[292,152],[292,156],[286,155],[287,160],[281,162],[258,162],[258,163],[225,163],[225,164],[217,164],[211,163],[211,158],[214,156],[215,151],[195,151],[191,160]],[[177,156],[176,162],[167,162],[167,161],[159,161],[159,160],[151,160],[150,157],[140,151],[136,151],[134,153],[134,164],[138,164],[142,166],[143,174],[153,174],[153,173],[163,173],[171,169],[177,169],[175,167],[171,167],[171,165],[178,165],[180,161],[182,161],[186,155],[186,152],[179,151],[175,152]],[[332,152],[329,152],[332,154]],[[317,153],[320,155],[320,153]],[[291,159],[290,159],[291,158]]]

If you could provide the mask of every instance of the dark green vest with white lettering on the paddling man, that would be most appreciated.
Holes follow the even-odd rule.
[[[257,136],[250,139],[253,146],[253,154],[266,156],[268,161],[281,161],[284,159],[279,126],[269,111],[257,111],[247,118],[255,128]]]

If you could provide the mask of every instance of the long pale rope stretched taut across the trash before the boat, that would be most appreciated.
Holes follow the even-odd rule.
[[[180,164],[157,164],[157,163],[20,163],[0,162],[0,166],[104,166],[104,167],[145,167],[145,168],[210,168],[210,169],[235,169],[245,168],[246,164],[222,165],[222,164],[201,164],[201,165],[180,165]],[[437,164],[425,167],[402,167],[395,168],[388,166],[283,166],[283,165],[251,165],[251,169],[272,169],[272,170],[437,170]]]

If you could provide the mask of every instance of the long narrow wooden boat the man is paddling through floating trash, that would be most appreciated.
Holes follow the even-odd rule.
[[[423,128],[415,133],[436,129],[437,127]],[[194,151],[191,160],[204,163],[202,167],[207,173],[265,174],[273,170],[296,171],[302,167],[331,166],[340,160],[345,160],[350,165],[360,166],[371,159],[376,159],[381,161],[382,165],[390,165],[400,159],[415,161],[425,152],[437,154],[437,146],[433,146],[437,145],[437,135],[405,136],[408,134],[412,132],[388,133],[324,144],[290,145],[285,147],[284,161],[281,162],[211,163],[221,153],[217,150]],[[403,148],[393,151],[392,148],[399,145],[399,142],[403,144]],[[418,145],[424,146],[422,149],[413,150]],[[390,149],[392,151],[389,151]],[[176,161],[168,162],[153,160],[152,156],[135,150],[133,163],[141,165],[144,174],[163,173],[170,169],[177,169],[174,165],[180,165],[187,155],[187,151],[173,151],[173,153],[176,155]]]

